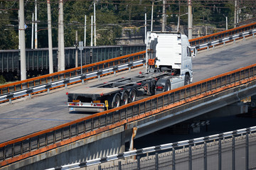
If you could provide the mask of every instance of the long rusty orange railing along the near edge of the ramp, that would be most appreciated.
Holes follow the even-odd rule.
[[[0,144],[0,166],[256,79],[256,64]],[[169,109],[168,108],[168,109]],[[165,108],[166,109],[166,108]],[[146,113],[146,114],[144,114]],[[150,114],[149,114],[150,113]],[[142,116],[143,115],[143,116]]]

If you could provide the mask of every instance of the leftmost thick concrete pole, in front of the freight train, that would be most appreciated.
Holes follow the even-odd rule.
[[[19,28],[20,28],[20,52],[21,52],[21,80],[26,79],[26,44],[25,44],[25,18],[24,0],[19,0]]]

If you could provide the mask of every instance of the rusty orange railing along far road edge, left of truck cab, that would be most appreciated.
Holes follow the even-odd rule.
[[[118,66],[119,64],[125,64],[127,62],[132,62],[132,61],[134,62],[136,60],[145,58],[144,53],[145,53],[145,51],[136,52],[132,55],[124,55],[122,57],[117,57],[117,58],[105,60],[102,62],[87,64],[87,65],[82,66],[82,73],[86,74],[86,73],[98,71],[100,69],[106,69],[109,67]],[[2,85],[2,86],[0,86],[0,91],[1,91],[0,95],[8,94],[8,93],[14,92],[14,91],[21,91],[23,89],[28,89],[30,87],[38,86],[41,84],[48,84],[53,81],[58,81],[61,79],[78,76],[79,74],[81,74],[81,67],[76,67],[73,69],[67,69],[62,72],[55,72],[53,74],[47,74],[47,75],[44,75],[41,77],[35,77],[32,79],[26,79],[23,81],[18,81],[15,83]],[[81,79],[80,79],[80,81],[81,81]],[[76,81],[76,82],[79,82],[79,81]],[[73,82],[73,83],[75,83],[75,82]]]

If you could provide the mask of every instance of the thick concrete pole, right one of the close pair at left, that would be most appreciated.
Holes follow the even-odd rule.
[[[58,26],[58,72],[65,70],[65,49],[64,49],[64,23],[63,23],[63,0],[60,0],[59,26]]]

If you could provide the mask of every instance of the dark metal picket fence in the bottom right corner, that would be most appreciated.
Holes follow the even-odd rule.
[[[99,170],[149,170],[149,169],[173,169],[173,170],[192,170],[192,169],[256,169],[256,132],[244,129],[242,132],[235,130],[230,135],[213,135],[201,137],[187,142],[177,142],[168,151],[161,152],[155,149],[149,156],[136,154],[137,159],[128,159],[127,162],[119,161],[117,165],[98,166]],[[183,144],[186,143],[186,144]],[[161,148],[156,146],[155,148]],[[112,156],[110,156],[112,157]],[[117,161],[115,161],[117,162]],[[72,166],[70,166],[71,168]],[[83,166],[80,166],[83,167]],[[61,167],[59,167],[61,169]]]

